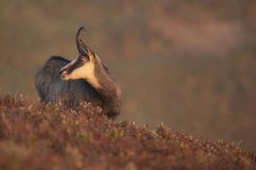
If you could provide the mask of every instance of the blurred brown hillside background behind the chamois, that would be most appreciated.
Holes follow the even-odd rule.
[[[256,1],[0,1],[1,93],[38,101],[36,71],[75,34],[122,88],[119,120],[256,151]]]

